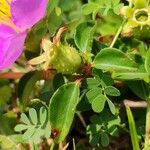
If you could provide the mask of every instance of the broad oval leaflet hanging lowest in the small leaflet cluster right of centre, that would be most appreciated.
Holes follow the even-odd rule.
[[[106,97],[104,95],[98,95],[92,101],[92,109],[94,112],[100,113],[105,107]]]

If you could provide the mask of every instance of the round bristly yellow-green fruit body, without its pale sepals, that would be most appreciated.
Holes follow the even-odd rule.
[[[78,51],[68,44],[57,43],[50,50],[50,66],[63,74],[75,73],[81,65]]]

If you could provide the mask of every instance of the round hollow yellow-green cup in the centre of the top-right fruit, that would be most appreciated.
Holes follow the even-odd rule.
[[[149,20],[147,9],[136,10],[134,13],[135,20],[138,23],[145,24]]]

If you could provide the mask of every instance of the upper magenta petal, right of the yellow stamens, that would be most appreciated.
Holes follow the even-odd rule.
[[[25,30],[32,27],[46,12],[48,0],[12,0],[13,22]]]

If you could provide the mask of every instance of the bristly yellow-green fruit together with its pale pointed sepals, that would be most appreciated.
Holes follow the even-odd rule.
[[[81,57],[78,51],[70,45],[60,42],[53,44],[45,38],[42,40],[41,47],[44,52],[30,60],[28,62],[30,65],[42,64],[44,70],[53,68],[62,74],[72,74],[79,69]]]

